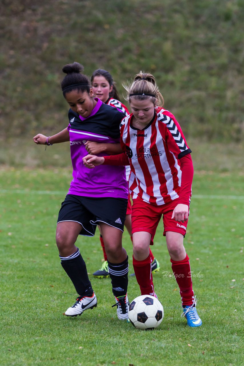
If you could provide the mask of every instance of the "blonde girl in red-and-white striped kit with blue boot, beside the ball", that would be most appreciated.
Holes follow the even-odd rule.
[[[140,291],[142,295],[156,296],[149,246],[163,216],[163,235],[180,288],[182,315],[189,326],[200,326],[183,244],[193,178],[191,150],[176,118],[161,107],[164,99],[153,75],[140,72],[131,85],[124,87],[132,111],[120,124],[124,153],[107,157],[88,155],[83,161],[89,168],[100,164],[130,165],[133,266]]]

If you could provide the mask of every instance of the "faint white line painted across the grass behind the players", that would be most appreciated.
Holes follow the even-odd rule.
[[[20,190],[20,189],[0,189],[0,194],[53,194],[53,195],[64,195],[67,191],[34,191],[34,190]],[[244,196],[231,196],[231,195],[213,195],[213,194],[195,194],[192,195],[192,199],[244,199]]]

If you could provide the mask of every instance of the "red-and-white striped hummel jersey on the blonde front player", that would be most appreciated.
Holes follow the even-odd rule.
[[[120,124],[121,146],[129,157],[131,167],[131,197],[163,205],[179,197],[179,159],[191,150],[179,123],[169,111],[156,108],[153,120],[144,130],[132,126],[132,116],[125,117]]]

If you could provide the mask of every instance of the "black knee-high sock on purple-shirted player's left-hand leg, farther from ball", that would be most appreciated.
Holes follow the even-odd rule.
[[[80,254],[79,248],[77,248],[76,252],[69,257],[59,257],[61,259],[63,269],[70,277],[78,294],[91,295],[93,293],[93,289],[88,278],[85,261]]]

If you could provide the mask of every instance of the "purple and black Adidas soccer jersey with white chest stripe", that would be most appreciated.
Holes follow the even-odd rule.
[[[120,142],[120,122],[125,114],[95,98],[97,104],[90,116],[83,118],[70,109],[70,151],[73,165],[73,180],[68,194],[85,197],[128,198],[128,183],[125,167],[100,165],[88,169],[82,158],[87,155],[84,143],[95,141],[102,143]],[[106,156],[101,153],[98,156]]]

